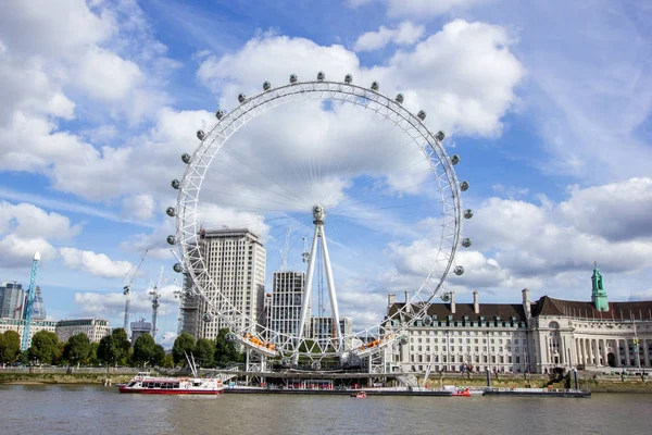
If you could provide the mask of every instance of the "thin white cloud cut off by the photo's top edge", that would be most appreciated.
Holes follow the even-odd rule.
[[[448,12],[468,9],[490,0],[349,0],[353,8],[378,2],[387,7],[389,16],[412,16],[414,18],[428,18]]]

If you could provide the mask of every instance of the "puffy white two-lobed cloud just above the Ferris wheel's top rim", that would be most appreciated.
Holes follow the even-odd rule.
[[[209,57],[198,77],[220,94],[223,108],[229,108],[238,94],[255,94],[265,79],[285,83],[288,71],[313,77],[322,70],[335,79],[352,73],[356,83],[379,80],[385,92],[402,91],[406,107],[425,109],[437,128],[449,134],[492,136],[500,133],[500,119],[515,103],[515,88],[525,74],[510,51],[514,42],[503,27],[456,20],[413,50],[397,52],[387,66],[367,70],[341,46],[263,36],[235,54]]]

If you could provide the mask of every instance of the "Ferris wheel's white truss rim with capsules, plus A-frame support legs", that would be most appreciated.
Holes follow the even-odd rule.
[[[436,181],[437,188],[434,191],[434,201],[440,206],[441,220],[438,223],[440,227],[439,245],[432,248],[438,249],[438,253],[432,261],[429,272],[423,278],[418,288],[411,289],[410,303],[398,310],[391,316],[388,316],[371,327],[363,331],[346,335],[336,332],[337,339],[314,340],[303,336],[303,324],[306,316],[305,299],[310,297],[309,291],[304,295],[302,306],[301,327],[298,334],[281,334],[269,330],[266,325],[258,324],[253,316],[242,322],[247,316],[237,309],[228,295],[223,294],[215,283],[214,276],[209,273],[205,259],[200,248],[200,225],[199,206],[202,184],[217,153],[223,146],[240,128],[254,121],[264,112],[272,111],[284,104],[291,104],[305,100],[329,100],[334,103],[353,104],[379,115],[385,121],[393,124],[402,132],[406,141],[417,147],[425,161],[428,162],[431,174]],[[410,318],[421,318],[425,314],[428,303],[442,291],[442,285],[449,273],[461,275],[464,269],[455,264],[455,253],[461,246],[471,246],[471,239],[462,238],[463,217],[471,217],[471,210],[462,210],[461,191],[468,188],[468,183],[457,181],[453,166],[460,161],[457,156],[449,157],[441,145],[444,136],[439,132],[432,134],[425,125],[426,113],[419,111],[414,114],[403,105],[403,96],[397,95],[396,98],[389,98],[379,92],[379,86],[376,82],[369,88],[353,84],[351,75],[347,75],[343,82],[329,82],[325,79],[324,73],[317,75],[316,80],[300,82],[297,76],[290,76],[290,83],[285,86],[272,87],[269,83],[263,84],[263,91],[251,98],[240,95],[239,105],[230,113],[223,111],[216,112],[216,124],[206,133],[199,130],[197,133],[201,144],[190,154],[184,154],[183,161],[187,164],[183,179],[173,181],[172,186],[178,189],[176,208],[168,208],[167,214],[176,217],[176,235],[168,236],[167,241],[176,245],[179,250],[179,263],[174,269],[179,273],[187,273],[193,282],[193,289],[202,298],[212,312],[205,315],[204,321],[210,321],[218,316],[229,326],[233,334],[229,338],[244,345],[249,350],[248,355],[258,353],[261,357],[274,357],[285,361],[297,361],[299,357],[304,357],[317,363],[324,358],[337,357],[346,364],[350,359],[365,359],[368,357],[369,370],[378,370],[381,362],[377,356],[388,345],[391,345],[402,336],[401,328],[406,327],[404,322],[398,321],[405,314]],[[438,208],[439,208],[438,206]],[[315,206],[317,208],[319,206]],[[337,310],[337,300],[333,285],[333,272],[328,260],[328,250],[324,234],[324,221],[319,220],[315,208],[311,210],[314,214],[315,233],[310,253],[310,263],[314,265],[317,237],[322,238],[323,254],[327,268],[327,279],[331,309],[334,311],[334,324],[339,325]],[[308,210],[306,210],[308,211]],[[309,264],[309,279],[306,286],[310,287],[312,278]],[[210,290],[210,297],[209,297]],[[394,322],[397,321],[397,322]],[[243,327],[248,324],[248,327]],[[385,326],[391,324],[391,333],[385,333]],[[403,325],[403,326],[399,326]],[[336,344],[334,345],[334,341]],[[346,345],[349,343],[349,345]],[[264,358],[262,358],[264,361]]]

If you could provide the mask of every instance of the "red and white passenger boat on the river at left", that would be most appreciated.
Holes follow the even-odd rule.
[[[120,393],[174,394],[174,395],[218,395],[224,393],[222,380],[199,377],[193,361],[188,358],[192,377],[152,376],[138,373],[131,381],[120,387]]]

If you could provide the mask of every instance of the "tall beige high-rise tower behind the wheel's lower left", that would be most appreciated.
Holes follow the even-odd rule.
[[[240,322],[238,326],[255,328],[255,324],[262,322],[264,316],[266,252],[261,238],[249,229],[201,229],[199,249],[215,285],[202,283],[209,300],[213,306],[221,306],[216,294],[216,288],[220,288],[240,313],[233,318]],[[199,298],[197,307],[193,315],[185,315],[184,319],[188,324],[197,324],[197,338],[215,338],[221,328],[229,326],[220,318],[197,322],[197,318],[204,319],[210,311],[203,298]]]

